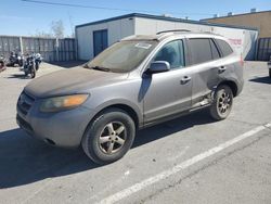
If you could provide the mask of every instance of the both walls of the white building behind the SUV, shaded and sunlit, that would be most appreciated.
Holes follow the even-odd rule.
[[[230,39],[237,53],[245,60],[254,60],[256,55],[257,30],[232,28],[216,25],[203,25],[197,22],[179,22],[141,16],[126,17],[98,24],[76,27],[79,60],[93,59],[93,31],[107,29],[108,46],[131,35],[153,35],[162,30],[189,29],[192,31],[215,33]]]

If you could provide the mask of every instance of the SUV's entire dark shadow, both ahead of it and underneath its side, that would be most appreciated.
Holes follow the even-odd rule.
[[[205,112],[202,112],[153,126],[138,132],[132,148],[195,125],[212,122]],[[0,132],[0,189],[101,167],[91,162],[81,149],[66,150],[49,146],[18,128]]]

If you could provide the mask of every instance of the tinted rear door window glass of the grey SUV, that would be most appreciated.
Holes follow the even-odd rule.
[[[199,64],[212,60],[210,42],[208,38],[190,39],[193,64]]]

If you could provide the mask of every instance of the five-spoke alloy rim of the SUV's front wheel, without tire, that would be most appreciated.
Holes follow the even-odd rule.
[[[100,149],[106,154],[118,152],[125,144],[127,138],[126,128],[120,122],[107,124],[99,138]]]

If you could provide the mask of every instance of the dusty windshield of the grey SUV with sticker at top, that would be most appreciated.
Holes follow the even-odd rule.
[[[90,61],[89,68],[127,73],[134,69],[151,53],[157,44],[156,41],[120,41]]]

